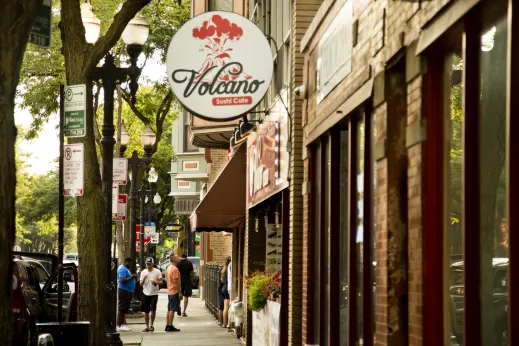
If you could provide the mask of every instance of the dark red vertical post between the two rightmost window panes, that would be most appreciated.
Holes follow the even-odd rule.
[[[467,18],[463,36],[464,105],[464,208],[463,237],[465,241],[465,344],[481,345],[480,282],[480,160],[479,160],[479,99],[480,99],[480,21]]]

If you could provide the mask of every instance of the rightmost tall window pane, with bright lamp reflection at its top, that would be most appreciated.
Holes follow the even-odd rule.
[[[507,22],[503,16],[485,27],[480,49],[479,236],[483,346],[508,345],[506,59]]]

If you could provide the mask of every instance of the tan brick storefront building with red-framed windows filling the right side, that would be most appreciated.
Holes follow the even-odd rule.
[[[468,133],[478,127],[464,118],[479,111],[485,119],[492,107],[500,121],[510,117],[505,105],[511,99],[496,99],[489,87],[510,90],[507,11],[512,3],[506,1],[322,1],[301,41],[302,344],[509,344],[513,314],[485,310],[478,296],[490,297],[492,288],[475,280],[508,274],[494,287],[494,302],[496,290],[512,292],[513,246],[498,239],[508,239],[512,216],[504,210],[513,197],[510,190],[477,188],[473,174],[497,186],[497,174],[478,164],[502,157],[510,138],[499,132],[502,122],[495,130],[501,137],[493,139],[503,146],[480,150],[477,144],[492,134]],[[502,59],[501,70],[491,58]],[[464,65],[470,61],[475,65]],[[482,80],[464,74],[469,66]],[[479,106],[469,80],[487,85]],[[504,161],[493,160],[505,188],[511,173]],[[460,161],[470,173],[460,171]],[[489,212],[481,221],[464,218],[468,209],[485,214],[484,205],[498,208],[501,221]],[[467,291],[471,295],[463,295]],[[494,329],[474,332],[481,321]]]

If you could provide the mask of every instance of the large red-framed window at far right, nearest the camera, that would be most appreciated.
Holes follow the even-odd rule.
[[[511,344],[517,249],[507,167],[517,158],[508,152],[508,28],[505,1],[482,2],[428,52],[424,340],[431,345]]]

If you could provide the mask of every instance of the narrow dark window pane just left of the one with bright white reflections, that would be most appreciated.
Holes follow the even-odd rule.
[[[340,132],[340,278],[339,278],[339,346],[348,345],[348,181],[349,181],[349,164],[348,164],[348,131]]]

